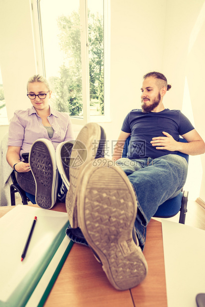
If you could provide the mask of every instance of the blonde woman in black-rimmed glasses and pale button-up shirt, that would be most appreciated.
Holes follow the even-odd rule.
[[[42,144],[50,147],[50,152],[53,151],[53,148],[56,150],[62,142],[74,140],[70,116],[68,113],[52,109],[49,104],[51,94],[49,83],[43,76],[32,76],[27,84],[27,96],[32,107],[27,110],[16,110],[9,125],[6,159],[16,171],[19,186],[33,195],[36,194],[36,178],[34,179],[31,172],[30,163],[23,162],[22,154],[29,153],[33,143],[38,139],[43,139]],[[58,197],[59,200],[64,201],[67,190],[65,186],[61,187],[62,180],[60,179],[59,176],[58,190],[61,192],[58,193]],[[53,202],[55,199],[52,200]],[[49,208],[54,204],[38,205]]]

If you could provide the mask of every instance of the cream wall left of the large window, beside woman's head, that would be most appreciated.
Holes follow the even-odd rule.
[[[0,0],[0,68],[10,120],[30,106],[26,84],[36,73],[29,0]]]

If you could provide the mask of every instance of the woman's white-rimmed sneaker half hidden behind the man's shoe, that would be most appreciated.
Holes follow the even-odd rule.
[[[69,163],[74,143],[75,141],[62,142],[55,151],[57,169],[67,190],[70,188]]]

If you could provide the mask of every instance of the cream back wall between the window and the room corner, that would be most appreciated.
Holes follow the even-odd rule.
[[[166,1],[110,2],[111,123],[102,126],[116,140],[125,115],[140,108],[143,75],[162,70]]]

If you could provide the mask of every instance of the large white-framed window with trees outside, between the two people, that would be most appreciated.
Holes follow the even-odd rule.
[[[33,2],[37,71],[51,84],[52,106],[73,123],[109,118],[107,1]]]

